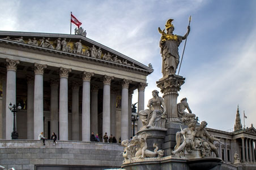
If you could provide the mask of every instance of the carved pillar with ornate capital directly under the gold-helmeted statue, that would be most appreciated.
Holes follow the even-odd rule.
[[[167,122],[181,123],[178,119],[177,97],[185,78],[178,75],[168,75],[156,82],[157,87],[163,93],[164,102],[167,108]]]

